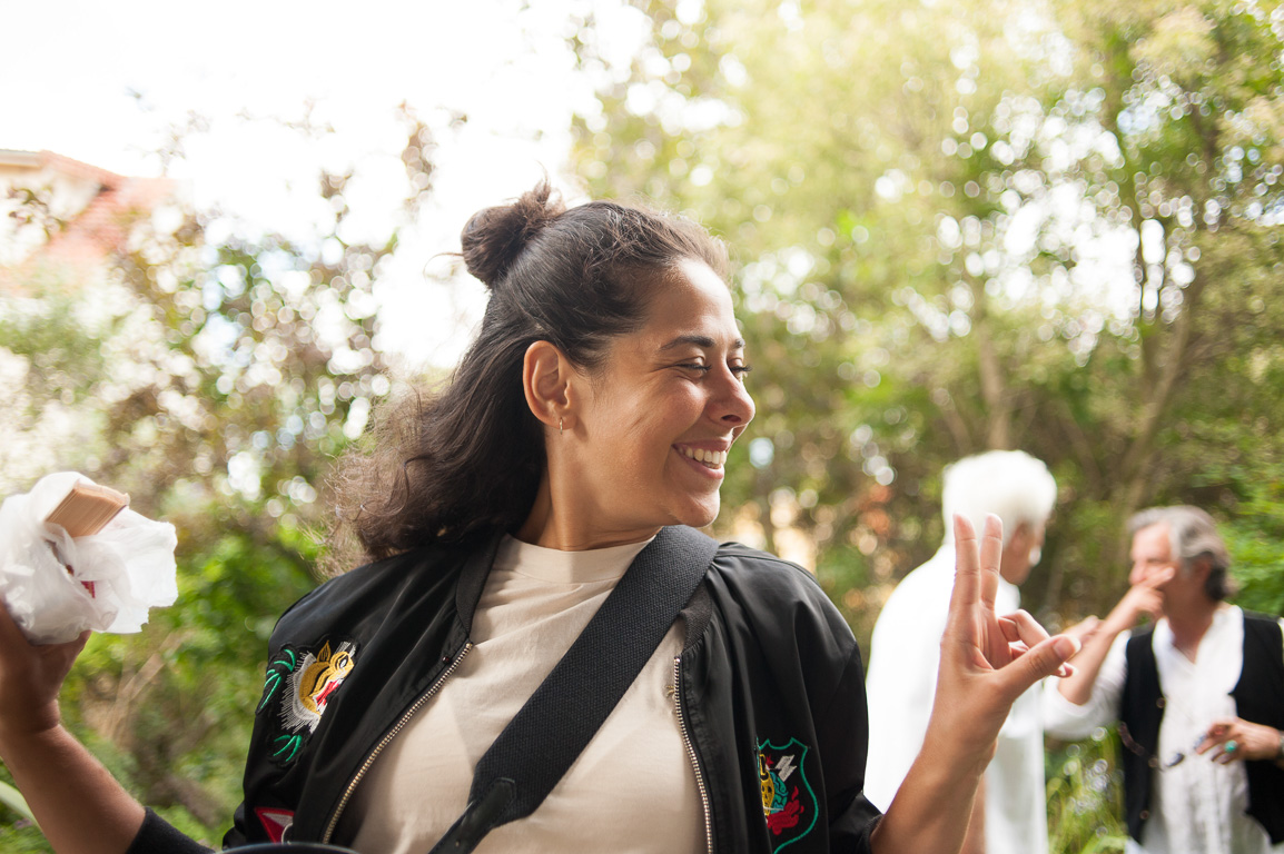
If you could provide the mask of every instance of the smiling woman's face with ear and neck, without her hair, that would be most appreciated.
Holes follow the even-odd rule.
[[[598,371],[532,345],[526,399],[560,430],[519,536],[575,550],[713,522],[727,451],[754,417],[743,349],[727,286],[691,259],[663,278],[646,323],[615,340]]]

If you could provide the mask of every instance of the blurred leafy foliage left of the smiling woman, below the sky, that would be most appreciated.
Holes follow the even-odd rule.
[[[435,144],[404,115],[408,223]],[[372,289],[397,236],[352,237],[354,181],[320,176],[333,217],[306,244],[187,212],[136,231],[103,281],[21,268],[0,306],[0,371],[19,390],[0,417],[14,449],[0,486],[82,471],[178,531],[178,601],[139,635],[91,640],[64,717],[144,803],[212,845],[240,799],[267,637],[317,581],[331,460],[392,386]],[[21,825],[0,828],[5,850],[44,850]]]

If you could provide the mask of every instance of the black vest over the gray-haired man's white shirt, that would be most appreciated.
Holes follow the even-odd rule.
[[[1127,832],[1141,841],[1141,826],[1150,817],[1150,786],[1159,766],[1159,724],[1163,692],[1150,646],[1152,631],[1127,641],[1120,721],[1124,736],[1124,805]],[[1235,713],[1244,721],[1284,731],[1284,633],[1275,617],[1244,614],[1244,667],[1230,692]],[[1271,760],[1245,762],[1249,816],[1261,822],[1271,844],[1284,841],[1284,769]]]

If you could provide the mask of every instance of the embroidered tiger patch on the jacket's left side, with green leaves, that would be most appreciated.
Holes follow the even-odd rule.
[[[320,649],[282,646],[267,666],[263,699],[258,713],[272,710],[281,733],[272,739],[271,758],[289,764],[298,757],[307,737],[316,732],[334,692],[357,664],[357,648],[351,641],[338,646],[325,641]]]

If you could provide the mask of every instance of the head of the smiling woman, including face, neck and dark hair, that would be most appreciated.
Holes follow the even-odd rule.
[[[339,477],[340,521],[367,554],[519,527],[528,541],[577,549],[620,541],[612,527],[633,541],[648,524],[654,533],[713,521],[709,483],[696,490],[711,510],[704,519],[646,518],[619,505],[650,496],[636,490],[666,465],[656,442],[725,450],[752,417],[737,382],[736,412],[718,418],[740,421],[700,423],[701,401],[709,415],[725,408],[727,373],[743,365],[722,244],[695,223],[610,201],[568,210],[547,185],[475,214],[462,244],[469,272],[490,291],[476,340],[446,390],[404,400],[383,421],[375,451],[351,456]],[[715,358],[723,367],[713,372]],[[684,414],[668,399],[679,389]],[[552,433],[565,441],[548,441]],[[592,509],[582,518],[580,508]],[[600,522],[605,541],[591,530]],[[570,524],[557,536],[571,539],[530,524]]]

